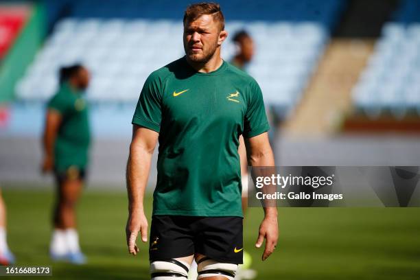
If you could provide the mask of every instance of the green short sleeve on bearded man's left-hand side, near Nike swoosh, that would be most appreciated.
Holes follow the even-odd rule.
[[[159,77],[152,73],[141,90],[132,124],[159,132],[162,120],[161,101],[161,82]]]

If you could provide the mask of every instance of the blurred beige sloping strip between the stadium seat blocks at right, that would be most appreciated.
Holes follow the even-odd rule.
[[[303,95],[282,125],[282,134],[299,137],[336,135],[352,113],[351,90],[371,56],[373,39],[331,38]]]

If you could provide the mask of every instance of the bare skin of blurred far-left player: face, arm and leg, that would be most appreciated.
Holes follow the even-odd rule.
[[[69,79],[69,84],[75,89],[85,89],[89,84],[89,78],[89,71],[80,69],[75,76]],[[62,116],[58,111],[52,109],[47,111],[43,135],[43,173],[54,170],[54,143],[61,121]],[[54,228],[74,229],[76,227],[75,205],[80,197],[82,187],[83,181],[80,178],[68,178],[61,182],[54,207]]]

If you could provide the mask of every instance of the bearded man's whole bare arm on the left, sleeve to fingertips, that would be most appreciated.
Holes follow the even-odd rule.
[[[139,231],[141,240],[148,241],[148,221],[143,209],[143,198],[148,183],[150,163],[159,133],[148,128],[134,125],[130,155],[128,156],[126,180],[128,192],[128,221],[126,237],[128,251],[136,255],[139,251],[135,244]]]

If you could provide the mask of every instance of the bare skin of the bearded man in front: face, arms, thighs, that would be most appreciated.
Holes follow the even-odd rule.
[[[227,32],[220,31],[220,25],[213,21],[213,16],[203,15],[192,22],[184,24],[184,48],[187,54],[187,62],[196,71],[209,73],[218,69],[223,60],[220,58],[220,47],[226,39]],[[211,54],[213,52],[213,54]],[[209,56],[211,54],[211,56]],[[209,59],[203,61],[203,58]],[[127,189],[128,189],[128,220],[126,224],[126,239],[128,252],[137,255],[137,235],[141,235],[141,241],[148,241],[148,220],[144,213],[143,198],[150,172],[152,154],[159,138],[159,133],[148,128],[134,125],[132,142],[130,144],[130,156],[127,163]],[[273,166],[274,156],[268,142],[267,133],[246,139],[249,159],[253,166]],[[266,239],[266,248],[262,255],[265,260],[273,252],[277,244],[277,209],[275,207],[264,209],[265,218],[259,227],[259,234],[255,246],[261,247]],[[191,264],[195,258],[201,259],[202,255],[190,255],[177,258]],[[226,277],[205,277],[205,280],[224,280]]]

